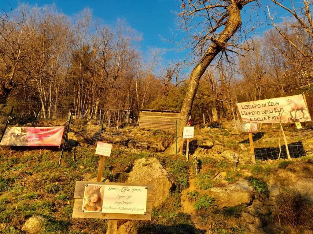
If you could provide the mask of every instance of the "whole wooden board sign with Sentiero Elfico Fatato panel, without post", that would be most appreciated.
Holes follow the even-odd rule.
[[[73,218],[151,220],[154,185],[76,181],[74,199]]]

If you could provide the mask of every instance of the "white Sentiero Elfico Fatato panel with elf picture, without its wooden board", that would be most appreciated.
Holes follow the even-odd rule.
[[[131,184],[87,184],[83,210],[84,212],[146,214],[147,189]]]

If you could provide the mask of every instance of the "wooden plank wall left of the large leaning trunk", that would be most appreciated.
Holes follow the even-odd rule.
[[[140,111],[139,128],[175,130],[180,113]]]

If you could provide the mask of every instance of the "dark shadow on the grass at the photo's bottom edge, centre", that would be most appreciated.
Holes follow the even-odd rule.
[[[206,230],[196,229],[194,226],[190,224],[177,224],[173,226],[166,225],[148,225],[145,227],[139,227],[137,234],[205,234]]]

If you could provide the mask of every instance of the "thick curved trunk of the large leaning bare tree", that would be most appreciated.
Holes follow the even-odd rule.
[[[224,30],[219,34],[218,38],[213,41],[211,46],[206,51],[205,55],[200,59],[198,64],[193,68],[188,90],[185,96],[185,100],[182,104],[181,116],[178,121],[177,126],[177,152],[182,152],[184,139],[182,139],[182,132],[184,126],[187,125],[188,117],[192,109],[192,104],[194,97],[198,90],[198,85],[201,76],[208,68],[209,64],[213,61],[215,56],[218,55],[220,51],[226,46],[227,41],[236,33],[237,29],[241,26],[241,17],[240,17],[241,6],[238,6],[236,1],[228,7],[229,18],[225,25]],[[172,145],[172,152],[175,153],[175,144]]]

